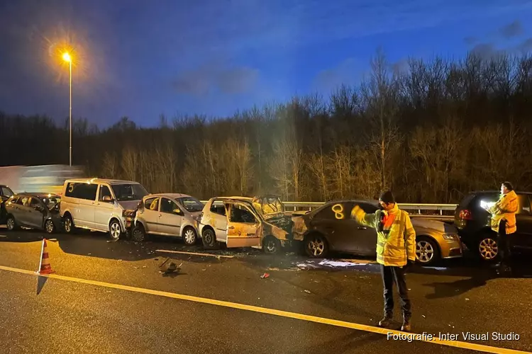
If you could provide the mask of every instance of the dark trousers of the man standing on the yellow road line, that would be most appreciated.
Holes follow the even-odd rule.
[[[410,319],[411,303],[409,299],[408,287],[406,287],[406,279],[404,278],[404,269],[402,267],[394,267],[387,265],[380,265],[380,273],[382,275],[382,282],[384,284],[384,313],[392,315],[394,312],[394,282],[397,284],[399,297],[401,298],[401,310],[403,316]]]

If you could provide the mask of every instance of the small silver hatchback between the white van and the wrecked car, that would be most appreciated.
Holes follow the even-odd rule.
[[[135,215],[132,237],[144,241],[147,234],[181,237],[193,245],[203,203],[185,194],[151,194],[143,198]]]

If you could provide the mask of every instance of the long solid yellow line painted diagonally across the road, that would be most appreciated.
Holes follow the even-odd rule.
[[[35,272],[33,272],[32,270],[11,268],[11,267],[6,267],[4,265],[0,265],[0,270],[7,270],[9,272],[14,272],[14,273],[35,275]],[[258,306],[253,306],[253,305],[239,304],[238,302],[228,302],[228,301],[221,301],[221,300],[216,300],[216,299],[209,299],[206,297],[196,297],[192,295],[176,294],[174,292],[151,290],[151,289],[145,289],[143,287],[132,287],[128,285],[113,284],[111,282],[99,282],[96,280],[72,278],[72,277],[67,277],[65,275],[57,275],[57,274],[47,274],[47,275],[39,275],[39,276],[52,278],[52,279],[66,280],[70,282],[79,282],[82,284],[96,285],[96,286],[101,286],[101,287],[111,287],[113,289],[120,289],[120,290],[126,290],[126,291],[131,291],[131,292],[140,292],[140,293],[148,294],[148,295],[157,295],[157,296],[162,296],[162,297],[170,297],[173,299],[181,299],[181,300],[187,300],[187,301],[192,301],[192,302],[199,302],[201,304],[211,304],[211,305],[216,305],[216,306],[221,306],[221,307],[229,307],[232,309],[241,309],[241,310],[250,311],[250,312],[257,312],[260,314],[270,314],[273,316],[286,317],[289,319],[300,319],[302,321],[309,321],[309,322],[314,322],[318,324],[328,324],[331,326],[343,327],[346,329],[355,329],[358,331],[384,334],[385,336],[387,336],[388,333],[391,333],[391,335],[396,334],[400,336],[419,334],[419,337],[421,338],[414,337],[415,341],[435,343],[435,344],[440,344],[442,346],[449,346],[449,347],[454,347],[454,348],[477,350],[477,351],[484,352],[484,353],[501,353],[501,354],[531,353],[531,352],[526,352],[522,350],[498,348],[498,347],[485,346],[482,344],[475,344],[475,343],[470,343],[470,342],[443,341],[438,338],[428,339],[426,338],[426,336],[421,336],[421,333],[408,333],[408,332],[396,331],[393,329],[382,329],[382,328],[375,327],[375,326],[367,326],[365,324],[355,324],[353,322],[339,321],[336,319],[326,319],[323,317],[311,316],[308,314],[298,314],[297,312],[287,312],[287,311],[282,311],[278,309],[269,309],[267,307],[258,307]]]

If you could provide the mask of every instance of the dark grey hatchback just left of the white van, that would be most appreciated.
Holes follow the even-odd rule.
[[[59,216],[60,196],[55,194],[21,193],[6,202],[6,227],[45,230],[48,234],[62,229]]]

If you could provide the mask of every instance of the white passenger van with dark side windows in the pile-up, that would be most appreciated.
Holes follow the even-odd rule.
[[[145,195],[148,192],[137,182],[69,179],[63,185],[60,206],[65,232],[71,234],[79,227],[109,232],[118,239],[131,226],[134,210]]]

